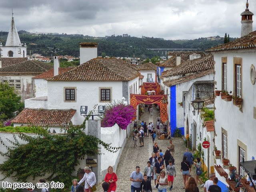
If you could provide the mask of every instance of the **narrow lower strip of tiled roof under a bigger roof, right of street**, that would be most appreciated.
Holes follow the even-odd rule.
[[[202,77],[202,76],[206,76],[206,75],[212,74],[212,73],[214,73],[214,69],[208,69],[208,70],[205,70],[203,72],[194,73],[194,74],[184,76],[182,78],[178,78],[178,79],[175,79],[175,80],[164,81],[164,84],[166,86],[170,87],[170,86],[181,84],[181,83],[184,83],[184,82],[188,82],[190,80],[193,80],[193,79],[196,79],[196,78],[199,78],[199,77]]]

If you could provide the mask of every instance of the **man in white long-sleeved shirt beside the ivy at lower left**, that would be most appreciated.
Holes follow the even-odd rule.
[[[85,192],[91,192],[92,186],[96,184],[96,177],[94,172],[89,167],[84,168],[84,177],[78,182],[78,185],[80,185],[82,182],[84,182],[84,188]]]

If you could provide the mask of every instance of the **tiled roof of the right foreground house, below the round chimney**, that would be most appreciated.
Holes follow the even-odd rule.
[[[249,33],[232,42],[222,44],[206,50],[207,52],[216,52],[224,50],[238,50],[238,49],[255,49],[256,48],[256,31]]]

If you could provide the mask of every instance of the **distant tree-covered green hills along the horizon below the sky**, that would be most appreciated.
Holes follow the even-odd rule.
[[[4,45],[8,32],[2,32],[0,41]],[[98,56],[132,57],[135,54],[139,58],[152,58],[154,56],[164,56],[147,48],[199,48],[205,49],[224,43],[224,38],[220,40],[208,40],[199,38],[195,40],[164,40],[154,37],[131,37],[128,34],[119,36],[91,37],[81,34],[30,34],[24,30],[19,31],[20,41],[26,43],[27,54],[42,54],[43,56],[70,55],[78,57],[80,55],[79,43],[98,43]],[[234,38],[230,38],[230,41]]]

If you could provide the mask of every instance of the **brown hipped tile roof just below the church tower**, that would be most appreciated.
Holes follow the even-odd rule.
[[[53,68],[52,65],[41,62],[28,60],[12,66],[0,68],[0,74],[6,73],[20,73],[20,74],[40,74]]]

